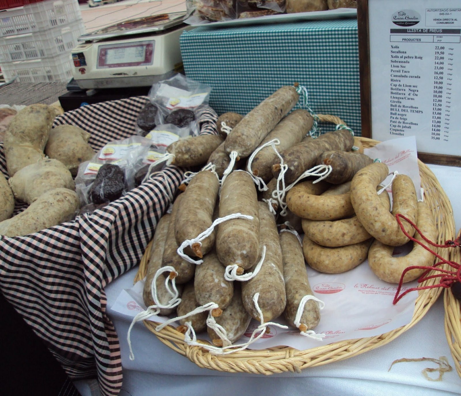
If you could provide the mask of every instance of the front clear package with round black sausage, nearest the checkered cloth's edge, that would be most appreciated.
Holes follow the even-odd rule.
[[[151,150],[151,141],[142,136],[107,143],[78,167],[75,189],[83,203],[81,213],[115,201],[135,187],[135,174]]]

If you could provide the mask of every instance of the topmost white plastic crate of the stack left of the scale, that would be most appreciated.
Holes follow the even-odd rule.
[[[0,37],[65,26],[82,19],[77,0],[47,0],[0,13]]]

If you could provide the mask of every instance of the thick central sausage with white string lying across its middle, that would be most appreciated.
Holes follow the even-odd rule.
[[[230,219],[218,225],[216,253],[224,266],[234,264],[247,270],[259,252],[259,212],[256,187],[245,171],[233,171],[225,178],[219,201],[219,217],[242,213],[248,219]]]

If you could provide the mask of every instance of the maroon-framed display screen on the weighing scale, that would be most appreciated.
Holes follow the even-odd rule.
[[[98,47],[98,69],[152,65],[155,41],[135,41]]]

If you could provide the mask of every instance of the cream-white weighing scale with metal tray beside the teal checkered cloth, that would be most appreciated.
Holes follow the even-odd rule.
[[[179,36],[190,27],[186,12],[129,19],[81,35],[72,49],[73,79],[80,89],[150,87],[183,63]]]

